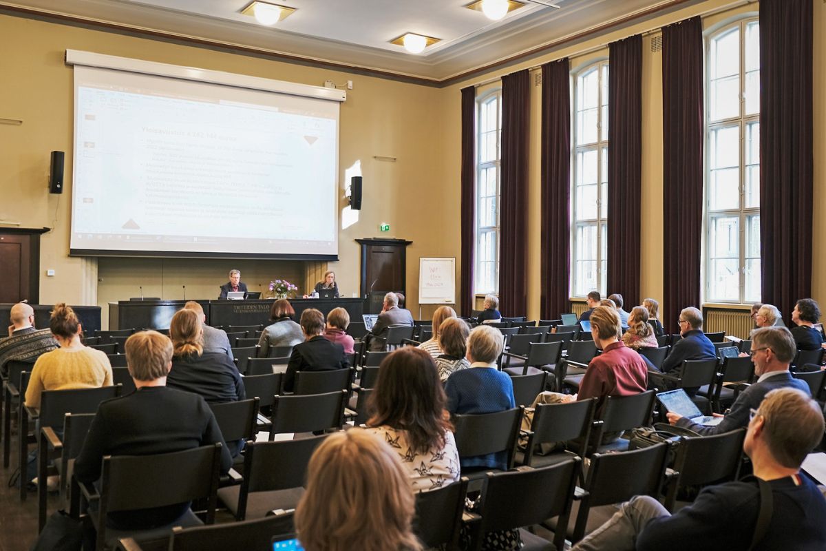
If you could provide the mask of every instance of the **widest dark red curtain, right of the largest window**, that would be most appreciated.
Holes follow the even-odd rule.
[[[812,1],[760,2],[762,302],[790,323],[812,287]]]

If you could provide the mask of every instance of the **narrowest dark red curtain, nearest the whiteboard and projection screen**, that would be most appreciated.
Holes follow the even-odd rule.
[[[459,304],[463,316],[470,316],[473,309],[473,245],[475,241],[476,211],[476,134],[474,119],[476,116],[476,88],[462,88],[462,259],[459,281]]]

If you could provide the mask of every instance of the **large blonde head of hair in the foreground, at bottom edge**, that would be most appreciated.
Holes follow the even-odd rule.
[[[312,455],[296,531],[306,551],[420,551],[414,512],[396,453],[357,428],[328,436]]]

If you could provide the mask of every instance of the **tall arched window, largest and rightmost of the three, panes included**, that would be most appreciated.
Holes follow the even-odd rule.
[[[708,37],[706,300],[759,302],[760,26],[738,21]]]

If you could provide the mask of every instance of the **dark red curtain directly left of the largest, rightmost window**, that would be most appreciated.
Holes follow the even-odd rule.
[[[703,124],[703,27],[692,17],[662,29],[661,318],[669,333],[682,308],[700,308]]]

